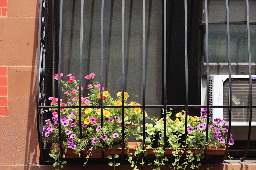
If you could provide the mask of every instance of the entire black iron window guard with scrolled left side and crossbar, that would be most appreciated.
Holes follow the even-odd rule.
[[[103,126],[103,108],[104,107],[120,107],[122,109],[122,123],[124,122],[124,108],[128,108],[131,106],[124,106],[124,8],[125,8],[125,0],[122,0],[122,105],[121,106],[103,106],[102,102],[100,106],[82,106],[81,104],[81,90],[79,90],[79,106],[61,106],[60,105],[60,77],[58,77],[58,89],[57,89],[57,98],[58,98],[58,106],[45,106],[45,98],[48,96],[44,95],[44,67],[45,67],[45,49],[44,49],[44,37],[45,37],[45,28],[46,28],[46,22],[45,18],[43,17],[44,15],[44,7],[45,3],[47,3],[47,0],[40,0],[40,10],[39,10],[39,34],[38,34],[38,63],[37,63],[37,129],[38,129],[38,141],[39,141],[39,149],[40,149],[40,157],[42,162],[45,161],[46,155],[43,154],[44,149],[45,149],[45,143],[42,141],[42,129],[44,125],[44,120],[43,117],[44,113],[43,110],[47,110],[50,108],[57,108],[58,109],[58,116],[61,117],[60,115],[60,109],[62,108],[79,108],[79,127],[80,127],[80,138],[82,137],[82,124],[81,124],[81,109],[82,108],[101,108],[101,126]],[[228,106],[211,106],[209,103],[209,50],[208,50],[208,3],[207,0],[205,1],[205,30],[206,30],[206,74],[207,74],[207,105],[202,106],[202,105],[189,105],[188,103],[188,30],[187,30],[187,0],[184,0],[184,13],[185,13],[185,104],[184,105],[167,105],[167,70],[166,70],[166,58],[167,58],[167,50],[166,50],[166,39],[168,38],[166,35],[166,0],[163,0],[163,105],[146,105],[145,102],[145,89],[146,89],[146,36],[145,36],[145,28],[146,28],[146,21],[145,21],[145,11],[146,11],[146,6],[145,6],[145,0],[143,0],[143,104],[141,106],[132,106],[132,107],[140,107],[143,108],[143,143],[145,143],[145,109],[146,108],[164,108],[164,123],[166,124],[166,111],[168,108],[185,108],[185,113],[188,112],[190,108],[202,108],[206,107],[207,108],[207,131],[206,131],[206,141],[208,139],[208,127],[209,127],[209,109],[210,108],[228,108],[229,109],[229,126],[228,126],[228,139],[230,139],[230,132],[231,132],[231,117],[232,117],[232,108],[249,108],[250,109],[250,116],[249,116],[249,131],[248,131],[248,139],[247,139],[247,147],[244,152],[244,155],[241,159],[241,162],[245,161],[248,150],[249,150],[249,144],[250,144],[250,136],[251,136],[251,127],[252,127],[252,108],[256,108],[255,106],[252,106],[252,71],[251,71],[251,53],[250,53],[250,21],[249,21],[249,3],[248,0],[246,1],[247,4],[247,32],[248,32],[248,59],[249,59],[249,80],[250,80],[250,104],[249,106],[232,106],[232,89],[231,89],[231,58],[230,58],[230,30],[229,30],[229,8],[228,8],[228,0],[226,0],[226,14],[227,14],[227,22],[224,22],[223,24],[227,25],[227,43],[228,43],[228,75],[229,75],[229,105]],[[81,89],[81,77],[82,77],[82,58],[83,58],[83,15],[84,15],[84,1],[81,0],[81,20],[80,20],[80,57],[79,57],[79,88]],[[62,18],[63,18],[63,0],[60,0],[59,4],[59,45],[58,45],[58,75],[61,73],[61,49],[62,49]],[[101,0],[101,47],[100,47],[100,83],[103,84],[103,9],[104,9],[104,0]],[[212,23],[211,23],[212,24]],[[254,23],[253,23],[254,24]],[[171,54],[170,54],[171,55]],[[47,56],[49,57],[49,56]],[[169,56],[168,56],[169,57]],[[51,76],[51,75],[47,75]],[[102,86],[100,88],[100,93],[101,93],[101,101],[102,101]],[[47,113],[46,113],[47,114]],[[186,114],[186,122],[185,122],[185,127],[187,127],[187,114]],[[60,119],[59,119],[59,125],[61,124]],[[185,135],[187,134],[187,129],[185,128]],[[61,138],[61,126],[59,126],[59,143],[62,143],[62,138]],[[164,139],[166,140],[166,126],[164,127]],[[122,141],[124,141],[124,126],[122,126]],[[165,142],[166,143],[166,142]],[[122,143],[122,155],[124,156],[124,142]],[[229,144],[227,142],[226,148],[228,148]],[[60,145],[60,151],[62,154],[62,145]],[[223,155],[222,161],[225,160],[227,156],[227,151],[226,149],[225,154]],[[81,154],[83,155],[83,154]],[[104,154],[103,154],[104,157]]]

